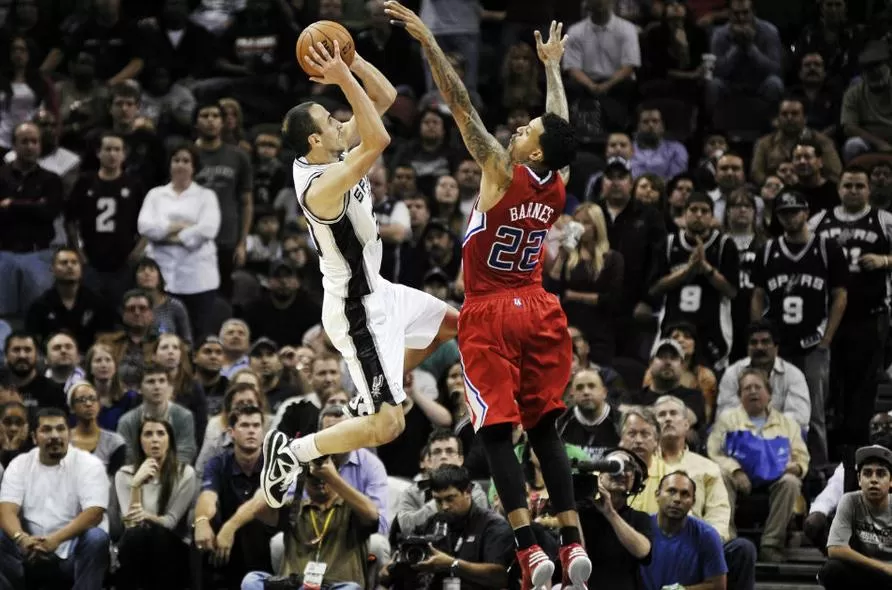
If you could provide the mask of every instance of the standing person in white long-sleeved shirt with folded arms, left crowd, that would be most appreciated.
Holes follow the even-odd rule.
[[[189,312],[193,334],[207,334],[220,271],[217,245],[220,203],[214,191],[193,182],[198,150],[189,144],[170,157],[170,183],[146,194],[139,211],[139,234],[149,242],[146,254],[158,263],[168,293]]]

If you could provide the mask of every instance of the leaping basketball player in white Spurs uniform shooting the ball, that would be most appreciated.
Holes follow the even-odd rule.
[[[381,115],[396,89],[359,55],[348,68],[337,42],[333,49],[334,57],[321,44],[311,52],[307,59],[321,71],[311,79],[337,84],[353,118],[341,124],[321,105],[303,103],[286,115],[282,135],[297,154],[294,189],[319,253],[322,325],[344,356],[358,393],[350,403],[350,420],[290,443],[282,432],[267,435],[261,490],[273,508],[285,502],[303,464],[377,447],[400,435],[403,374],[454,338],[458,322],[458,312],[439,299],[379,275],[381,238],[366,174],[390,143]]]

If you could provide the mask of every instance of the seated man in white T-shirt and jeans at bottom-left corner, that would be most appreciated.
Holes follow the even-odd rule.
[[[73,590],[97,590],[109,563],[105,467],[68,446],[68,417],[58,408],[38,413],[35,439],[0,485],[0,588],[67,579]]]

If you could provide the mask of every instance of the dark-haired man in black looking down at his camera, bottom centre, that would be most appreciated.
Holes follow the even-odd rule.
[[[508,522],[473,502],[464,467],[445,464],[432,471],[430,490],[437,504],[433,517],[414,530],[401,530],[398,521],[390,529],[397,550],[381,570],[381,584],[395,590],[440,590],[453,581],[462,590],[505,588],[514,559]]]

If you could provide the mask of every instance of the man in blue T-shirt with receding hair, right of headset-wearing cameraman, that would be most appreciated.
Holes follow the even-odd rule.
[[[659,512],[651,517],[653,551],[641,567],[645,590],[679,584],[686,590],[725,590],[728,567],[722,539],[712,525],[688,516],[697,484],[683,471],[660,480]]]

